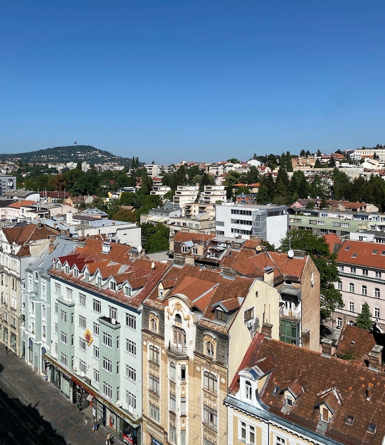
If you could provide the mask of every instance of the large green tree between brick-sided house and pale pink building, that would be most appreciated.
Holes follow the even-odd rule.
[[[281,241],[281,249],[304,250],[310,255],[320,273],[321,319],[327,319],[337,308],[343,307],[341,294],[334,287],[338,278],[335,256],[330,254],[329,246],[323,237],[313,235],[311,230],[289,230]]]

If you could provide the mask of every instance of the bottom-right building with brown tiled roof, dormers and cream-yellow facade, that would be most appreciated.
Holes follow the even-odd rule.
[[[254,338],[224,400],[228,444],[383,444],[382,346],[367,362],[338,359],[323,346],[320,354]]]

